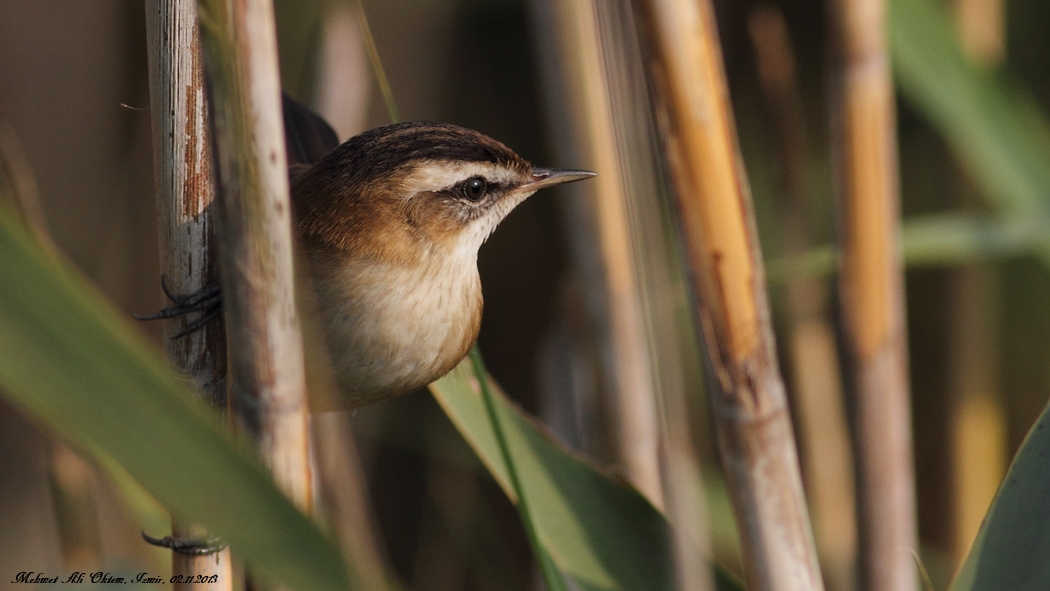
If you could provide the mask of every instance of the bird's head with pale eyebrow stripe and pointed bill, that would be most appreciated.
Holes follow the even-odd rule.
[[[356,135],[293,182],[308,245],[387,261],[477,256],[500,221],[537,190],[593,176],[536,168],[500,142],[439,123]]]

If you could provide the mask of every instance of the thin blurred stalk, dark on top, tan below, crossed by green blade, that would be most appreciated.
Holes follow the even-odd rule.
[[[805,122],[795,56],[783,14],[773,5],[752,12],[749,28],[780,167],[786,250],[812,247],[805,181]],[[832,591],[856,587],[857,518],[853,449],[839,373],[835,331],[828,320],[828,284],[815,277],[791,281],[788,293],[795,408],[799,415],[803,477],[814,513],[817,548]]]

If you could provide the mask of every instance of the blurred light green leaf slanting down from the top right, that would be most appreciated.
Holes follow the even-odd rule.
[[[1027,93],[967,62],[943,4],[890,2],[901,91],[948,140],[1001,217],[1050,219],[1050,124]],[[1036,246],[1050,262],[1050,247]]]

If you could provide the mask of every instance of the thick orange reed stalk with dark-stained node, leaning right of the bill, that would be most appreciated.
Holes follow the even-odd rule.
[[[710,2],[636,0],[753,590],[822,589]]]

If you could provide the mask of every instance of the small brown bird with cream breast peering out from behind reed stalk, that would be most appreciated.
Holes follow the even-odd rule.
[[[478,249],[537,190],[594,176],[536,168],[455,125],[387,125],[329,151],[335,133],[318,115],[286,98],[285,119],[308,325],[323,335],[339,389],[322,407],[362,406],[448,373],[481,326]]]

